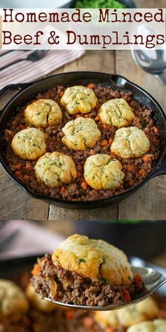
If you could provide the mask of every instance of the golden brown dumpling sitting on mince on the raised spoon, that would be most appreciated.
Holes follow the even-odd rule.
[[[132,271],[122,250],[78,234],[63,241],[52,255],[54,264],[92,280],[107,279],[111,284],[129,285]]]

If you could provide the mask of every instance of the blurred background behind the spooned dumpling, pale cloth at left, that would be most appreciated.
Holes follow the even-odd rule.
[[[166,222],[69,220],[0,222],[0,259],[53,251],[72,234],[102,238],[125,251],[129,257],[158,262],[166,267]]]

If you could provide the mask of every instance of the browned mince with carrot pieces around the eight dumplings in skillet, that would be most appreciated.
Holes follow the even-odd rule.
[[[65,87],[53,87],[43,94],[38,94],[32,101],[38,100],[40,98],[51,98],[60,105],[60,94],[62,94],[64,90]],[[84,186],[82,188],[82,181],[84,181],[85,160],[91,154],[107,153],[110,155],[110,143],[108,143],[107,146],[102,147],[101,141],[103,141],[103,139],[106,139],[107,141],[109,141],[109,139],[113,139],[117,128],[102,125],[101,122],[96,122],[98,129],[101,130],[101,139],[98,140],[94,148],[87,148],[85,151],[71,150],[61,141],[61,138],[63,137],[62,128],[66,122],[75,119],[75,115],[70,115],[60,105],[60,108],[63,110],[63,122],[41,130],[49,135],[46,142],[48,152],[59,151],[70,155],[73,158],[77,167],[77,179],[75,179],[72,184],[63,185],[58,188],[53,189],[48,187],[45,184],[40,183],[36,178],[34,172],[34,165],[36,161],[22,160],[18,156],[14,155],[13,151],[11,150],[12,135],[27,127],[24,119],[25,107],[20,108],[18,106],[18,109],[15,111],[16,115],[12,118],[11,122],[8,123],[7,127],[7,129],[12,131],[12,135],[8,134],[8,130],[6,130],[4,133],[4,139],[6,140],[6,162],[11,172],[15,174],[15,176],[18,177],[18,179],[23,182],[23,184],[32,189],[32,191],[63,200],[98,200],[101,198],[108,198],[122,193],[127,189],[130,189],[136,184],[139,184],[139,182],[141,182],[148,176],[148,174],[152,172],[155,165],[157,165],[160,153],[160,133],[159,131],[156,132],[155,130],[156,127],[155,121],[152,118],[152,111],[148,110],[146,106],[141,106],[139,102],[134,101],[131,92],[113,90],[110,87],[104,87],[101,84],[94,86],[94,92],[98,98],[98,105],[95,110],[91,110],[91,113],[89,113],[88,116],[91,119],[95,120],[95,117],[98,113],[98,107],[100,107],[102,103],[110,100],[111,98],[125,98],[127,103],[129,103],[129,106],[134,108],[136,117],[132,125],[143,129],[143,132],[145,132],[146,136],[148,136],[148,139],[151,142],[151,149],[147,154],[151,154],[151,160],[144,161],[143,158],[125,160],[122,158],[117,158],[120,160],[120,162],[122,162],[123,172],[125,172],[124,183],[118,189],[96,191],[90,186],[88,186],[87,189],[84,189]],[[30,169],[27,170],[25,167],[26,164],[29,164],[28,166]],[[130,167],[130,170],[129,165],[132,166]]]

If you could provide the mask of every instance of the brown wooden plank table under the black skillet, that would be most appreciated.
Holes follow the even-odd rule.
[[[145,5],[146,3],[146,5]],[[165,7],[165,0],[136,0],[139,8]],[[93,70],[123,75],[154,96],[165,109],[165,86],[157,78],[138,68],[130,51],[87,51],[79,60],[56,72]],[[133,196],[107,208],[96,210],[66,210],[30,198],[0,170],[1,219],[166,219],[166,177],[157,177]]]

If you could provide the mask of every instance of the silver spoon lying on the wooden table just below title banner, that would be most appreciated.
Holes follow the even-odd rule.
[[[132,49],[132,56],[136,65],[149,74],[155,75],[166,85],[166,77],[163,74],[166,70],[166,48],[151,51]]]

